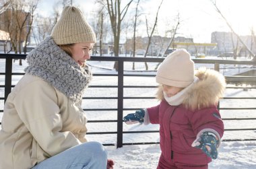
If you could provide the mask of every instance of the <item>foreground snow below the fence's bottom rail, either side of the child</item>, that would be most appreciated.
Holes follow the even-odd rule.
[[[108,157],[115,160],[115,168],[152,169],[160,157],[158,145],[127,145],[119,149],[107,147]],[[217,160],[210,169],[255,169],[256,143],[249,141],[222,142]]]

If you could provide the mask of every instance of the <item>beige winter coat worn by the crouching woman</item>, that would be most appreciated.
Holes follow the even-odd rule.
[[[86,115],[49,83],[24,75],[5,103],[0,168],[25,169],[86,141]],[[11,125],[9,125],[11,124]]]

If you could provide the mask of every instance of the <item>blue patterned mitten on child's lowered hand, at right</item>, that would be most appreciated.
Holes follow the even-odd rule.
[[[218,137],[209,131],[201,133],[201,135],[199,135],[199,137],[192,143],[192,147],[202,149],[207,156],[214,160],[218,157],[218,145]]]

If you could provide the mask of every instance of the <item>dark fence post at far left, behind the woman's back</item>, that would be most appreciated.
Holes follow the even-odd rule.
[[[12,73],[12,58],[6,57],[5,60],[5,101],[7,96],[11,93],[11,73]]]

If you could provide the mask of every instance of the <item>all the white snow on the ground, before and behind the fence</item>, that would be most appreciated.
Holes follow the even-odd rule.
[[[18,61],[13,63],[14,72],[24,72],[26,67],[26,61],[23,61],[23,66],[18,66]],[[5,61],[0,59],[0,71],[5,71]],[[113,71],[113,62],[104,61],[89,61],[88,64],[92,65],[93,73],[116,73]],[[135,63],[136,73],[152,74],[155,75],[154,67],[156,63],[148,63],[150,66],[149,71],[144,71],[144,65],[141,63]],[[104,69],[99,68],[104,67]],[[132,63],[125,63],[125,73],[133,73],[131,71]],[[213,65],[208,64],[196,64],[195,67],[209,67],[213,68]],[[222,65],[222,73],[230,75],[230,71],[233,73],[241,71],[241,67],[234,65]],[[230,68],[231,67],[231,68]],[[248,67],[245,67],[248,69]],[[232,74],[232,73],[231,73]],[[0,85],[3,85],[4,75],[0,75]],[[15,85],[20,76],[15,75],[12,79],[12,84]],[[146,85],[156,86],[154,77],[124,77],[125,85]],[[97,77],[94,76],[91,85],[113,85],[117,86],[117,77]],[[135,96],[154,96],[156,90],[154,88],[125,88],[125,97]],[[0,97],[3,97],[3,89],[0,89]],[[110,96],[117,97],[116,88],[88,88],[84,96]],[[255,97],[256,90],[243,90],[243,89],[227,89],[225,92],[226,97]],[[155,99],[133,99],[124,100],[124,108],[146,108],[158,104]],[[255,108],[255,100],[220,100],[220,107],[238,108],[238,107],[249,107]],[[117,100],[84,100],[84,108],[117,108]],[[0,109],[3,109],[3,101],[0,102]],[[123,114],[128,114],[133,111],[126,110]],[[247,118],[255,117],[256,110],[221,110],[222,118]],[[3,113],[0,112],[0,119]],[[86,112],[89,120],[117,120],[116,111],[87,111]],[[235,128],[255,128],[256,121],[224,121],[226,129]],[[123,131],[144,131],[144,130],[158,130],[158,125],[123,125]],[[99,131],[117,131],[117,123],[88,123],[89,132]],[[225,131],[223,139],[247,139],[256,138],[256,131]],[[88,135],[90,141],[100,141],[102,143],[116,143],[117,135]],[[136,133],[136,134],[124,134],[123,141],[125,143],[134,142],[157,142],[159,141],[158,133]],[[141,168],[151,169],[156,168],[158,164],[158,158],[160,157],[160,147],[156,145],[125,145],[119,149],[115,146],[106,146],[108,150],[108,157],[115,161],[115,168]],[[219,149],[219,156],[217,160],[213,160],[210,163],[210,169],[224,168],[224,169],[247,169],[256,168],[256,141],[230,141],[222,142]]]

